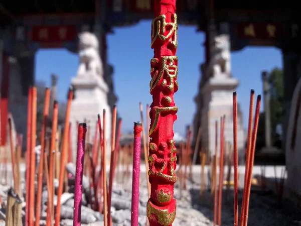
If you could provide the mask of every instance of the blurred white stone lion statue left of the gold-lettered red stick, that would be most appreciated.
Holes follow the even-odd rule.
[[[99,56],[99,44],[96,36],[91,32],[79,34],[78,44],[79,67],[78,77],[103,76],[102,61]]]

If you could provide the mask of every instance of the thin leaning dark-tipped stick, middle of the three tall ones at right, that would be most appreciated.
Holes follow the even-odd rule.
[[[247,140],[247,149],[246,149],[246,164],[245,164],[245,177],[244,177],[244,190],[242,197],[242,205],[240,211],[240,224],[244,225],[245,221],[245,197],[246,197],[246,183],[248,178],[249,171],[249,161],[250,161],[250,153],[251,153],[251,144],[252,144],[252,124],[253,124],[253,107],[254,107],[254,89],[251,89],[250,93],[250,106],[249,106],[249,122],[248,122],[248,140]]]

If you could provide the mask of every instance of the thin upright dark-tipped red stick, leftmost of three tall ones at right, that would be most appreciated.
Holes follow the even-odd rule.
[[[238,226],[237,95],[233,92],[234,226]]]

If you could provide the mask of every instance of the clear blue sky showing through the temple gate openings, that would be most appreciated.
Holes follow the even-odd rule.
[[[139,121],[139,102],[152,102],[149,94],[150,59],[154,56],[150,49],[150,21],[142,21],[134,26],[115,28],[108,35],[108,62],[114,66],[114,86],[118,96],[117,109],[122,118],[122,132],[131,132],[134,121]],[[174,130],[182,135],[185,127],[192,123],[200,81],[199,65],[204,62],[204,34],[196,32],[194,26],[179,26],[179,90],[175,101],[179,107],[178,120]],[[244,126],[250,89],[262,94],[261,71],[270,71],[275,66],[282,68],[279,49],[272,47],[248,47],[231,54],[233,77],[239,79],[238,101],[243,111]],[[64,101],[71,77],[76,76],[78,56],[64,49],[39,50],[36,54],[36,80],[44,80],[50,85],[50,74],[59,75],[58,99]],[[96,116],[95,116],[96,118]]]

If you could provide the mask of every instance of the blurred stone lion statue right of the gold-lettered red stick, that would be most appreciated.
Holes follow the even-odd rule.
[[[220,75],[231,76],[230,40],[228,35],[214,37],[211,48],[211,60],[206,74],[209,77]]]

